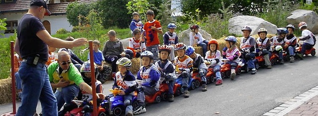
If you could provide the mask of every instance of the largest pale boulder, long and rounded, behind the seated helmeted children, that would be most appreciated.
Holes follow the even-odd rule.
[[[229,33],[237,35],[242,34],[242,27],[249,26],[252,28],[251,34],[257,34],[259,28],[266,28],[269,34],[276,34],[277,26],[256,16],[241,15],[229,19]]]

